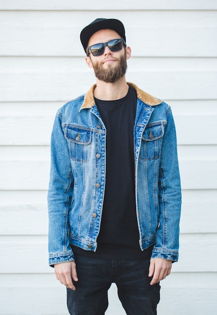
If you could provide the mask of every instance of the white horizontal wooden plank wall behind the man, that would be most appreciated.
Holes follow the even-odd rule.
[[[94,75],[80,30],[118,18],[127,80],[172,106],[183,206],[180,260],[159,315],[214,315],[217,296],[216,0],[0,0],[0,314],[66,315],[47,259],[49,141],[56,110]],[[116,287],[107,315],[125,312]]]

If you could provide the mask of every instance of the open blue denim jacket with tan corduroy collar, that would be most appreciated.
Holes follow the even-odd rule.
[[[178,260],[181,188],[171,108],[137,92],[134,125],[137,220],[141,250]],[[57,112],[48,191],[49,264],[74,260],[69,244],[95,251],[105,189],[106,129],[93,86]]]

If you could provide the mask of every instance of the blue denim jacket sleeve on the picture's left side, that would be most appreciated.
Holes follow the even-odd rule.
[[[73,176],[67,140],[57,113],[51,135],[51,169],[48,189],[49,265],[74,260],[68,237],[68,212],[73,198]]]

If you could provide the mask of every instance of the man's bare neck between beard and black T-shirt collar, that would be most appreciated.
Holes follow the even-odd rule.
[[[125,76],[121,77],[115,83],[105,83],[96,78],[96,88],[93,95],[101,101],[115,101],[125,97],[128,93],[129,86]]]

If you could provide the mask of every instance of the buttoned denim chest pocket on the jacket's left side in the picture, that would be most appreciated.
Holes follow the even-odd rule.
[[[88,162],[90,159],[91,131],[66,126],[65,138],[68,141],[70,158],[74,161]]]

